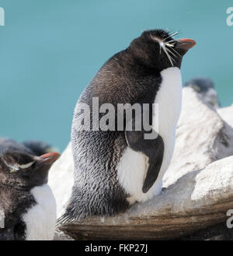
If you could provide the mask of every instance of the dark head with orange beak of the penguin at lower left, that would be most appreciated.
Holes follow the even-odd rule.
[[[58,153],[32,156],[7,149],[0,156],[0,182],[16,188],[33,188],[47,183],[48,171],[59,158]]]

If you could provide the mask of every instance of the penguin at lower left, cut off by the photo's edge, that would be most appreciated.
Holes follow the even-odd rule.
[[[58,153],[33,156],[16,149],[0,155],[0,240],[52,240],[56,202],[47,185],[48,171]]]

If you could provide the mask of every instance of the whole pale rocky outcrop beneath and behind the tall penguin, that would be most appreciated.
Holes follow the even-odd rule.
[[[233,209],[233,105],[215,110],[191,88],[162,194],[124,214],[60,226],[75,240],[232,239],[227,212]],[[50,171],[49,183],[61,216],[73,184],[71,146]]]

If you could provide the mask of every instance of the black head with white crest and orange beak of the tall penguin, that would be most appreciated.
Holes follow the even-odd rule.
[[[170,67],[180,68],[183,55],[196,42],[192,39],[175,40],[175,35],[165,30],[146,30],[131,42],[129,50],[149,68],[159,71]]]

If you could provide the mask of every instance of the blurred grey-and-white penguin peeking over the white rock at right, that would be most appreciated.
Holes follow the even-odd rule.
[[[205,77],[196,77],[185,83],[185,87],[193,88],[196,93],[199,93],[203,103],[206,103],[209,107],[217,109],[220,107],[220,103],[217,99],[217,92],[214,89],[214,82]]]

